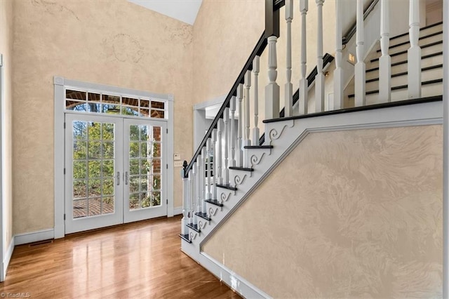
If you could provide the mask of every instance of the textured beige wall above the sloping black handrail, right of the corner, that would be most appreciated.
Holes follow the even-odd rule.
[[[262,0],[203,0],[194,24],[194,103],[229,92],[264,26]]]

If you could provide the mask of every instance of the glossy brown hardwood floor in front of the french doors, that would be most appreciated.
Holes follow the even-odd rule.
[[[0,292],[30,298],[240,298],[180,251],[179,233],[177,216],[16,246]]]

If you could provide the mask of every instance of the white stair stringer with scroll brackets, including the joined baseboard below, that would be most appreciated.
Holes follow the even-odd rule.
[[[210,207],[208,212],[212,220],[201,221],[201,232],[190,234],[192,243],[182,241],[181,250],[196,260],[197,263],[215,274],[232,289],[246,298],[270,298],[243,277],[229,270],[222,263],[201,251],[202,245],[213,236],[222,224],[244,203],[250,194],[264,182],[274,169],[281,164],[290,152],[300,144],[309,133],[326,131],[356,130],[360,128],[387,128],[397,126],[420,126],[442,124],[442,102],[424,102],[414,105],[371,109],[359,112],[333,114],[321,117],[290,119],[265,124],[265,134],[269,136],[267,150],[250,150],[249,157],[254,171],[249,173],[237,171],[232,173],[232,182],[238,190],[221,190],[217,197],[223,200],[223,207]],[[241,174],[243,173],[243,174]],[[207,222],[207,223],[206,223]],[[244,229],[244,227],[242,227]]]

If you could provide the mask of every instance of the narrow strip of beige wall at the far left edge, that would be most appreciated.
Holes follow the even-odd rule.
[[[12,180],[12,160],[13,160],[13,138],[12,138],[12,106],[13,106],[13,1],[0,1],[0,53],[4,55],[4,100],[1,109],[3,114],[1,134],[4,144],[4,160],[2,161],[3,176],[3,217],[4,217],[4,252],[11,244],[13,238],[13,180]]]

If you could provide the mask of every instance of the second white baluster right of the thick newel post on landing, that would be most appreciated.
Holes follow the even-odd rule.
[[[306,77],[307,72],[307,11],[309,10],[309,0],[300,0],[301,11],[301,79],[300,79],[300,114],[307,114],[307,106],[309,105],[309,82]]]

